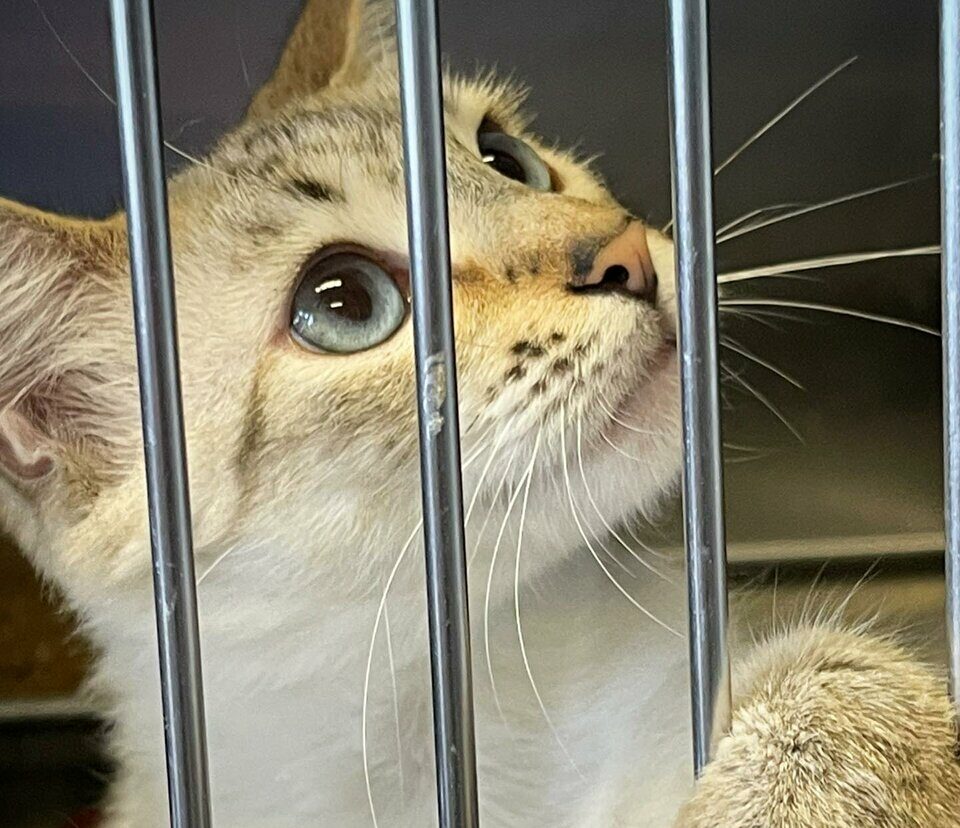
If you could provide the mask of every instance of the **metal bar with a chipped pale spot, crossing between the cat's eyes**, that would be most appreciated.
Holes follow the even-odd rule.
[[[476,826],[477,774],[436,0],[397,0],[440,825]]]

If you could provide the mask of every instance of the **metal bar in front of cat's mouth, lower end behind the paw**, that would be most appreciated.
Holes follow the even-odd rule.
[[[730,715],[707,0],[669,0],[683,512],[697,774]]]

